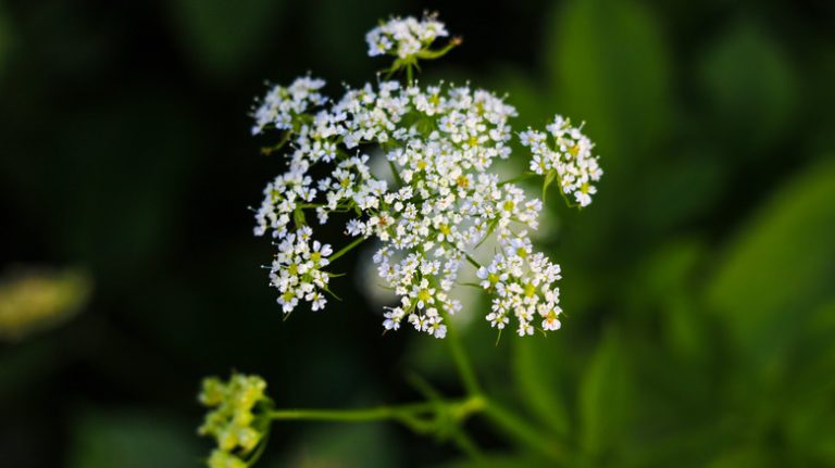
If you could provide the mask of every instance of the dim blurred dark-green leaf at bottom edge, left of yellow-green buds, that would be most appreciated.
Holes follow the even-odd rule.
[[[188,468],[208,454],[188,425],[138,410],[83,413],[73,437],[68,468]]]

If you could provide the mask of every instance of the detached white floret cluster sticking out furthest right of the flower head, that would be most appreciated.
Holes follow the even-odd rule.
[[[543,131],[528,128],[520,138],[533,153],[531,170],[539,175],[550,174],[549,178],[556,176],[563,194],[573,195],[579,206],[588,206],[591,195],[597,193],[591,182],[600,180],[603,172],[597,157],[591,155],[594,144],[579,131],[581,128],[572,127],[570,119],[557,115],[546,127],[553,137],[553,147]]]

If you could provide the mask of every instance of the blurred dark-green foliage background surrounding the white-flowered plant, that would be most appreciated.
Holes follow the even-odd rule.
[[[0,466],[199,466],[199,379],[232,369],[283,407],[411,401],[408,371],[460,393],[444,343],[381,337],[350,279],[283,321],[247,210],[282,166],[249,137],[264,79],[361,85],[385,66],[364,31],[427,8],[464,45],[422,79],[507,92],[516,130],[586,121],[606,170],[588,210],[549,200],[563,329],[464,330],[488,391],[571,466],[835,466],[826,0],[0,2],[0,275],[92,291],[0,342]],[[274,429],[259,466],[486,466],[394,425]],[[536,466],[466,429],[489,466]]]

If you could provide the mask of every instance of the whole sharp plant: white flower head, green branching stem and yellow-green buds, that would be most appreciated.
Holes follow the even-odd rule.
[[[392,56],[386,79],[406,71],[406,83],[386,80],[345,91],[332,100],[322,93],[325,81],[304,76],[287,87],[275,86],[253,112],[254,135],[279,131],[265,153],[279,153],[287,165],[264,189],[256,214],[258,236],[271,235],[277,253],[270,279],[278,290],[285,314],[303,303],[313,311],[327,303],[329,266],[374,239],[379,277],[397,295],[384,313],[385,330],[408,324],[435,338],[446,338],[464,395],[449,400],[415,379],[426,401],[352,409],[282,409],[265,393],[257,376],[234,374],[228,381],[207,379],[200,401],[210,408],[200,433],[215,439],[210,468],[247,468],[263,453],[272,423],[287,420],[372,422],[394,421],[421,434],[435,434],[479,458],[481,450],[464,422],[482,415],[520,446],[552,463],[565,461],[565,447],[541,429],[487,395],[453,324],[461,302],[451,294],[458,284],[475,286],[490,298],[485,319],[501,336],[514,320],[520,337],[558,330],[561,326],[561,269],[534,250],[528,231],[538,228],[549,186],[571,206],[584,207],[596,193],[602,170],[591,154],[594,144],[559,115],[547,132],[519,135],[531,149],[529,172],[499,180],[490,170],[511,154],[516,116],[503,98],[470,86],[440,83],[422,87],[414,79],[420,61],[436,60],[461,43],[448,36],[436,15],[392,17],[366,35],[369,54]],[[374,154],[374,160],[372,159]],[[396,187],[372,173],[373,163],[388,165]],[[375,166],[376,167],[376,166]],[[543,176],[541,200],[515,184]],[[313,220],[327,225],[346,218],[352,238],[334,252],[314,239]],[[495,239],[493,257],[482,245]],[[484,248],[487,249],[487,248]],[[476,283],[458,280],[472,267]]]

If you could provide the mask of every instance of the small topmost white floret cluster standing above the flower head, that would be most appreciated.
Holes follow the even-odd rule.
[[[395,17],[365,35],[369,55],[392,54],[408,59],[429,47],[438,37],[447,36],[446,26],[434,15],[418,21],[414,17]]]

